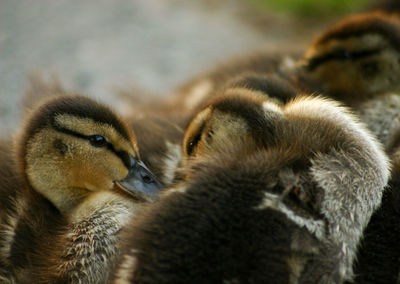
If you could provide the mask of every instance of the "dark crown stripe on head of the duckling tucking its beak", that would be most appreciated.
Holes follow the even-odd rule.
[[[271,145],[274,142],[276,121],[267,118],[262,101],[251,100],[246,96],[232,96],[217,101],[213,108],[243,118],[255,141],[263,145]]]

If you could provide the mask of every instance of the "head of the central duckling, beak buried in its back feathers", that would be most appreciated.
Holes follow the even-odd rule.
[[[281,116],[280,102],[266,93],[229,88],[189,123],[183,139],[185,160],[213,155],[237,141],[254,150],[274,143],[274,122]]]

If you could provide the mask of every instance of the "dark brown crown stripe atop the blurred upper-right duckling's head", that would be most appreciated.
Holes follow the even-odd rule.
[[[332,39],[346,39],[368,34],[377,34],[386,38],[393,48],[400,51],[400,19],[381,13],[356,15],[349,17],[319,37],[314,45],[324,44]]]

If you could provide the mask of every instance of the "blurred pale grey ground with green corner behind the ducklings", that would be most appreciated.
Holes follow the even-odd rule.
[[[380,1],[381,2],[381,1]],[[0,0],[0,137],[15,132],[29,74],[124,111],[132,89],[166,96],[230,57],[305,50],[368,0]]]

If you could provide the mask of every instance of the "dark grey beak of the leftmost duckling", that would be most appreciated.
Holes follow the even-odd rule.
[[[162,186],[161,182],[142,161],[130,156],[130,164],[128,175],[117,184],[134,196],[156,199]]]

